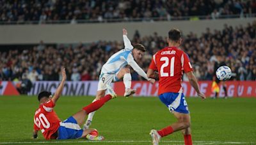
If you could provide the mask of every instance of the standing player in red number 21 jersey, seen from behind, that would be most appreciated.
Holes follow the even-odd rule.
[[[167,41],[168,46],[153,55],[147,76],[148,78],[154,78],[155,71],[159,72],[159,99],[177,118],[177,122],[161,130],[151,130],[150,135],[153,144],[158,144],[161,137],[182,130],[184,142],[188,145],[192,144],[191,122],[188,104],[182,93],[181,78],[183,72],[188,76],[189,83],[195,88],[198,96],[205,99],[205,95],[199,90],[188,55],[179,49],[182,42],[179,29],[171,29],[168,32]]]

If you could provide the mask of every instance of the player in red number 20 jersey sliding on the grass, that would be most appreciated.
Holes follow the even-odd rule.
[[[67,120],[60,121],[57,114],[53,110],[57,100],[60,98],[63,86],[66,80],[65,68],[61,70],[62,81],[58,86],[56,93],[52,97],[51,92],[40,92],[38,100],[40,102],[39,108],[35,112],[34,116],[34,130],[33,138],[37,138],[38,130],[41,130],[45,139],[79,139],[86,137],[90,140],[101,141],[104,139],[102,136],[98,136],[98,132],[95,129],[81,129],[84,119],[87,114],[99,109],[108,100],[115,98],[116,94],[112,88],[108,86],[108,92],[110,94],[102,97],[101,99],[93,102],[92,104],[83,107],[81,111],[78,111],[73,116],[70,116]],[[110,88],[109,88],[110,87]]]

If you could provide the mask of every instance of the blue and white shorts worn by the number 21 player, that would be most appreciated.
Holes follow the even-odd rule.
[[[159,99],[172,113],[173,111],[178,113],[189,113],[188,104],[183,93],[162,93],[159,95]]]

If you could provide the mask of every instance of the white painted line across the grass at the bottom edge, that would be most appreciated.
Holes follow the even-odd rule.
[[[54,144],[54,143],[124,143],[124,142],[151,142],[151,141],[38,141],[38,142],[0,142],[0,144]],[[161,141],[161,142],[184,142],[184,141]],[[196,145],[208,145],[208,144],[255,144],[256,142],[220,142],[220,141],[193,141]]]

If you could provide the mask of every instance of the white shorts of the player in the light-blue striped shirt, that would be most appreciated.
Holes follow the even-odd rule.
[[[100,74],[98,90],[106,90],[107,85],[110,85],[112,82],[119,81],[116,77],[116,74]]]

